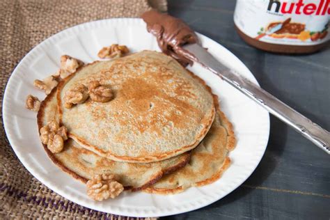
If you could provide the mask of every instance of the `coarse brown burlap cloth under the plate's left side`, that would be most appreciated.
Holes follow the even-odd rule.
[[[150,5],[166,10],[166,0],[150,1]],[[149,7],[147,0],[0,0],[1,107],[8,77],[39,42],[75,24],[139,17]],[[15,156],[2,120],[0,145],[0,219],[131,219],[90,210],[47,189]]]

